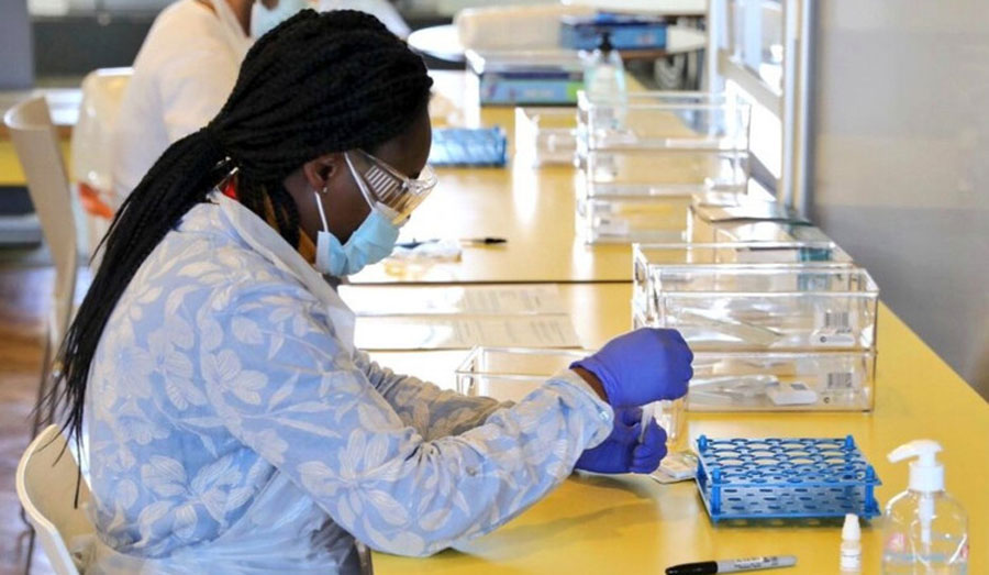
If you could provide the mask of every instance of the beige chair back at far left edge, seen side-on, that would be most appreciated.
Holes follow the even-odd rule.
[[[79,254],[76,220],[58,133],[44,97],[25,100],[3,115],[27,178],[27,191],[55,262],[52,342],[62,342],[73,314]]]

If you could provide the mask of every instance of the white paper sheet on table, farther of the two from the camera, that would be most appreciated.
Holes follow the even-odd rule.
[[[566,313],[556,286],[341,286],[357,316]]]

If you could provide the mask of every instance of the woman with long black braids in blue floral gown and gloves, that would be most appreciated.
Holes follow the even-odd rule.
[[[351,572],[355,538],[429,555],[575,466],[656,467],[663,431],[635,407],[686,392],[675,332],[622,335],[514,405],[354,349],[320,273],[387,255],[434,185],[430,86],[374,18],[300,12],[127,198],[59,353],[86,573]]]

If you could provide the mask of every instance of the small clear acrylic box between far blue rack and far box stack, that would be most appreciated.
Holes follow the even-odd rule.
[[[515,156],[532,166],[573,165],[577,153],[574,108],[515,108]]]

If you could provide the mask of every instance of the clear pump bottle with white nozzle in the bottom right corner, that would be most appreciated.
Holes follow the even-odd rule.
[[[968,573],[968,516],[944,490],[941,445],[911,441],[889,454],[910,462],[910,488],[890,499],[884,517],[882,573],[965,575]]]

